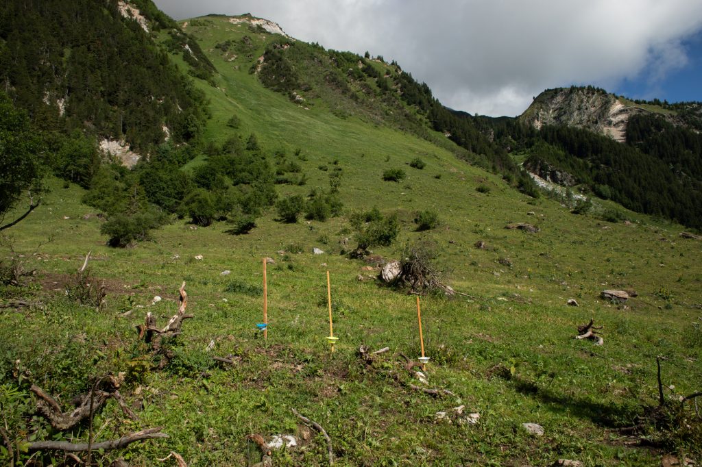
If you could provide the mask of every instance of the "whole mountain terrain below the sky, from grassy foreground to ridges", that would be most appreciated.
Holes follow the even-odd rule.
[[[3,465],[702,462],[700,102],[151,0],[4,1],[0,83]]]

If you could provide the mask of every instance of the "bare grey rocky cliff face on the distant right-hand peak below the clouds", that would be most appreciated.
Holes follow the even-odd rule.
[[[623,142],[630,116],[642,111],[600,89],[558,88],[538,95],[519,119],[535,128],[543,125],[586,128]]]

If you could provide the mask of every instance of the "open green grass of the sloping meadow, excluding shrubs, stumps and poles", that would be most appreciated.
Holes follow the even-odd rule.
[[[206,137],[222,142],[253,132],[268,152],[301,149],[306,160],[298,162],[307,186],[284,185],[282,194],[327,189],[328,173],[338,161],[345,215],[325,223],[282,224],[268,212],[244,236],[225,234],[229,226],[223,224],[193,229],[174,221],[156,231],[152,242],[115,250],[99,234],[100,219],[81,217],[91,210],[76,201],[80,190],[56,182],[46,203],[8,230],[27,269],[39,272],[29,289],[4,287],[4,300],[22,297],[42,304],[0,310],[1,370],[20,358],[37,384],[67,401],[86,391],[91,378],[131,369],[122,393],[138,407],[140,420],[121,423],[119,407],[109,402],[95,417],[95,426],[104,426],[100,439],[149,426],[164,426],[170,435],[105,456],[122,455],[133,465],[152,465],[170,450],[188,465],[252,463],[257,453],[246,435],[305,435],[293,408],[326,428],[339,465],[549,465],[559,458],[588,466],[658,462],[661,451],[632,445],[615,428],[632,425],[644,405],[657,403],[656,355],[666,358],[663,381],[675,386],[666,389],[670,398],[700,389],[702,337],[690,324],[702,306],[699,241],[679,238],[680,226],[642,215],[628,213],[630,224],[571,215],[555,201],[519,194],[427,140],[357,116],[341,119],[323,102],[307,110],[263,88],[244,66],[250,63],[246,57],[229,62],[214,49],[227,38],[253,36],[246,25],[226,18],[198,24],[187,32],[219,72],[217,87],[199,84],[213,113]],[[253,60],[263,41],[271,40],[255,35],[260,42]],[[226,126],[232,115],[241,120],[240,128]],[[423,170],[407,165],[416,157],[427,163]],[[387,168],[403,168],[408,177],[383,182]],[[489,193],[476,191],[480,185]],[[376,254],[397,258],[408,241],[434,241],[446,282],[470,296],[422,299],[432,358],[427,387],[454,395],[432,398],[397,382],[393,374],[421,386],[398,356],[419,353],[414,297],[381,287],[368,278],[377,269],[365,270],[367,264],[339,254],[352,236],[348,214],[373,205],[383,212],[398,210],[402,223],[397,244]],[[442,226],[419,233],[412,219],[425,209],[437,210]],[[541,231],[504,229],[510,222],[531,222]],[[32,255],[51,235],[53,241]],[[479,240],[486,250],[474,247]],[[325,254],[312,255],[312,247]],[[303,252],[291,252],[298,248]],[[77,306],[62,292],[87,250],[93,251],[93,274],[107,285],[107,304],[100,311]],[[0,250],[4,262],[12,255],[8,245]],[[275,261],[268,266],[267,342],[255,329],[261,320],[263,257]],[[220,275],[224,270],[231,273]],[[340,337],[333,355],[324,340],[327,270]],[[176,310],[173,299],[183,280],[194,318],[172,343],[171,364],[156,370],[140,363],[149,360],[134,326],[143,323],[146,311],[164,325]],[[620,287],[639,295],[625,307],[598,297],[603,289]],[[150,306],[154,295],[164,301]],[[567,306],[571,298],[580,306]],[[602,347],[574,339],[577,325],[590,318],[605,326]],[[212,340],[214,348],[206,351]],[[366,365],[357,355],[361,344],[391,351]],[[232,355],[235,364],[216,365],[213,355]],[[466,413],[479,413],[478,424],[436,419],[436,412],[459,405]],[[521,425],[529,422],[541,424],[545,435],[527,435]],[[51,435],[38,421],[30,425],[44,427],[42,439]],[[313,433],[303,444],[274,452],[275,465],[326,463],[321,436]],[[677,448],[699,455],[689,444],[665,446]]]

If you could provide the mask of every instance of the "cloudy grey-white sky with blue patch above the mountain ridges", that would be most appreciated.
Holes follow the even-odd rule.
[[[154,2],[177,20],[251,13],[296,39],[369,50],[471,114],[521,114],[545,88],[571,84],[702,100],[702,0]]]

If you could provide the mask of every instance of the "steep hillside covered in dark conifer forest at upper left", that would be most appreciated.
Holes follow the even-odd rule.
[[[2,89],[46,130],[78,129],[144,151],[167,137],[192,140],[204,120],[201,93],[151,37],[177,36],[174,27],[150,0],[4,1]]]

